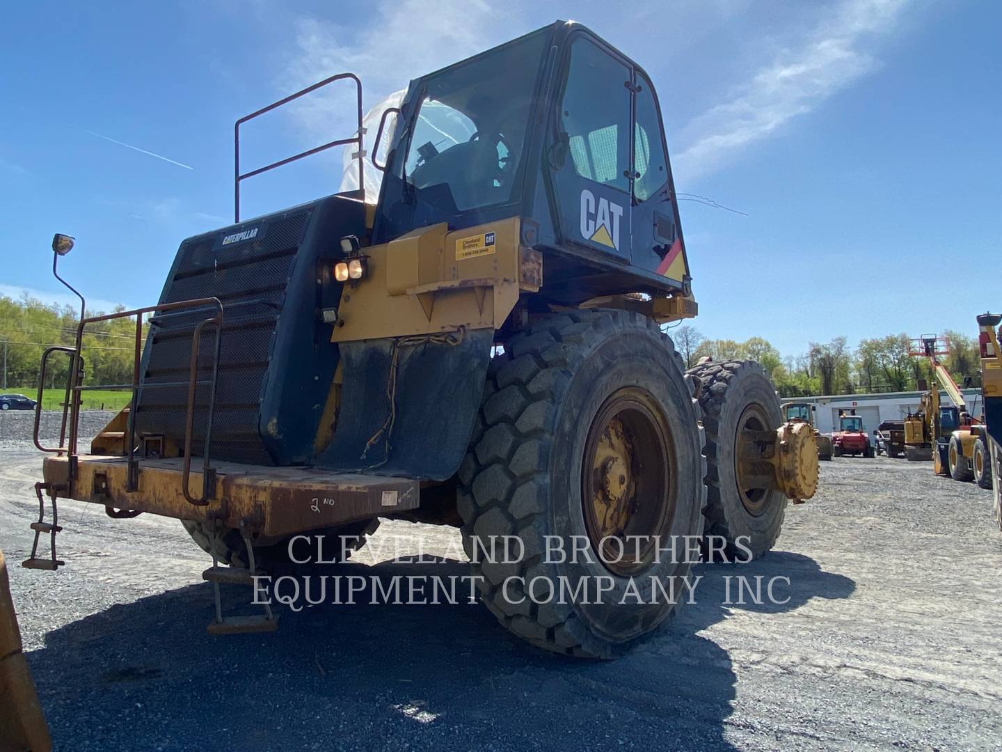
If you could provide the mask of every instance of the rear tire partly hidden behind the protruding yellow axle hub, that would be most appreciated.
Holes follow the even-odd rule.
[[[734,462],[738,433],[783,425],[776,388],[750,360],[705,363],[686,373],[699,379],[699,407],[706,431],[706,535],[722,535],[731,547],[740,538],[759,557],[776,543],[787,497],[768,488],[742,489]],[[836,447],[838,450],[838,447]],[[742,555],[747,554],[741,549]]]

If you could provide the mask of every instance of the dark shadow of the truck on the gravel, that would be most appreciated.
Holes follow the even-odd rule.
[[[385,562],[337,574],[388,585],[468,569]],[[360,596],[354,606],[286,611],[276,634],[212,638],[207,584],[55,630],[28,660],[59,747],[732,749],[724,728],[735,673],[726,651],[697,633],[732,609],[787,612],[848,598],[855,585],[783,551],[695,574],[697,603],[610,662],[535,650],[465,601],[374,606]],[[789,601],[725,606],[731,575],[790,578],[775,593]],[[243,592],[228,588],[227,607],[238,609]]]

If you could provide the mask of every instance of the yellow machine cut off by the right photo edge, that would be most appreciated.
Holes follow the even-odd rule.
[[[1002,316],[978,316],[978,349],[981,355],[981,397],[984,432],[975,441],[974,473],[978,485],[991,488],[995,501],[995,521],[1002,530],[1002,351],[999,350],[999,322]]]

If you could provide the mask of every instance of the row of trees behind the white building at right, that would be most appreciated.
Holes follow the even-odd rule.
[[[910,337],[889,334],[860,340],[856,349],[845,337],[831,342],[811,342],[808,350],[784,356],[769,340],[752,337],[743,342],[707,339],[689,325],[673,327],[667,333],[690,368],[709,356],[713,360],[757,360],[769,373],[783,397],[860,392],[906,392],[933,384],[928,360],[909,355]],[[981,360],[973,337],[948,330],[950,355],[944,365],[959,386],[981,385]]]

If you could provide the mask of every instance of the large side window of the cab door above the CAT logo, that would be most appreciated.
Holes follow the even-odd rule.
[[[579,37],[571,45],[560,126],[582,177],[629,192],[629,69]],[[658,136],[660,138],[660,136]],[[659,141],[658,141],[659,142]]]

